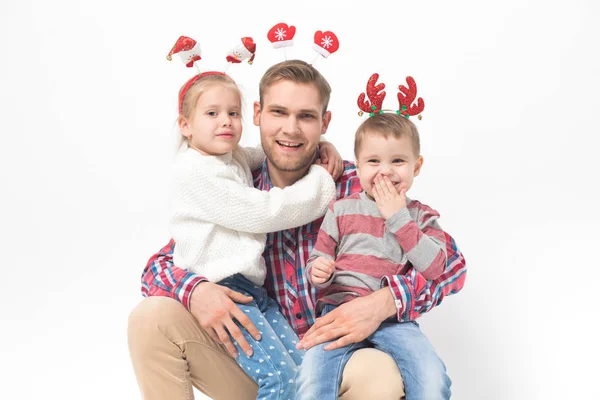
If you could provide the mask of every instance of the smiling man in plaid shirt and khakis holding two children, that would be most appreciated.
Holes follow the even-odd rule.
[[[302,178],[315,160],[319,139],[331,121],[327,111],[331,88],[311,65],[290,60],[267,70],[259,92],[254,124],[260,127],[267,159],[255,171],[254,184],[261,190],[283,188]],[[338,198],[360,190],[355,166],[346,162],[337,180]],[[462,287],[464,259],[449,238],[444,279],[386,277],[380,290],[340,306],[309,331],[315,322],[315,292],[304,269],[321,221],[269,234],[264,252],[265,287],[307,347],[330,340],[334,347],[363,340],[385,319],[415,319]],[[174,266],[173,246],[171,241],[149,260],[142,276],[142,293],[148,298],[129,319],[130,353],[144,398],[189,399],[193,385],[215,400],[255,399],[257,386],[233,358],[238,355],[232,343],[237,341],[247,355],[252,354],[234,323],[258,339],[258,329],[234,303],[250,298]],[[403,395],[402,378],[391,357],[363,349],[350,358],[340,399],[397,400]]]

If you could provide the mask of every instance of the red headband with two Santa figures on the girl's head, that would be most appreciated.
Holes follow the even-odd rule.
[[[242,61],[248,59],[248,64],[252,64],[254,61],[254,56],[256,53],[256,44],[254,40],[249,37],[243,37],[241,39],[241,43],[235,45],[227,54],[225,59],[227,60],[227,67],[225,67],[225,71],[229,68],[231,64],[239,64]],[[194,39],[187,36],[180,36],[179,39],[173,45],[171,51],[167,55],[167,60],[171,61],[174,54],[179,54],[181,61],[185,64],[186,67],[192,68],[196,67],[198,72],[197,75],[194,75],[190,78],[181,91],[179,92],[179,113],[181,114],[183,108],[183,99],[186,93],[189,91],[190,87],[198,81],[198,79],[207,76],[207,75],[223,75],[228,76],[225,71],[206,71],[201,72],[200,68],[196,64],[198,61],[202,59],[202,52],[200,48],[200,43],[196,42]]]

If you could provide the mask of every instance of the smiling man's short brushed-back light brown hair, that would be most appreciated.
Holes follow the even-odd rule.
[[[287,60],[272,65],[263,75],[258,86],[260,109],[263,108],[263,98],[269,87],[279,81],[313,84],[319,91],[323,114],[327,112],[331,86],[327,80],[309,63],[302,60]]]

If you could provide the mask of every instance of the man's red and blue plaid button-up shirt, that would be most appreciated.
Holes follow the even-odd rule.
[[[338,199],[362,190],[356,166],[346,161],[344,167],[344,173],[337,181]],[[267,191],[273,187],[266,162],[254,172],[254,186]],[[323,218],[319,218],[298,228],[269,233],[263,253],[268,269],[265,288],[279,303],[281,311],[300,337],[315,320],[316,289],[308,282],[304,272],[322,221]],[[466,277],[465,259],[452,237],[447,236],[447,243],[446,271],[438,279],[428,281],[413,268],[406,275],[390,275],[382,279],[381,286],[389,286],[396,300],[399,321],[418,318],[440,304],[444,296],[462,289]],[[175,242],[171,239],[148,260],[142,273],[142,295],[171,297],[189,309],[192,290],[206,279],[173,265],[174,247]]]

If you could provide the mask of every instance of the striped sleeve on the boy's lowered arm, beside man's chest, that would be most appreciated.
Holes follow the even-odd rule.
[[[321,223],[321,228],[319,229],[319,235],[317,236],[317,242],[315,243],[315,246],[313,247],[306,264],[306,278],[317,289],[324,289],[331,285],[331,282],[333,282],[333,278],[335,277],[335,270],[326,282],[318,284],[313,282],[311,279],[310,271],[312,269],[312,264],[318,257],[324,257],[335,261],[338,241],[339,230],[335,213],[333,211],[332,202],[329,206],[329,209],[325,213],[325,217]]]

